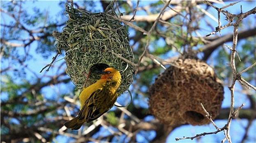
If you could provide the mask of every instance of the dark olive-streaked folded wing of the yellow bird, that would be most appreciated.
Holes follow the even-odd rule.
[[[95,100],[98,100],[98,95],[101,93],[102,88],[93,92],[90,97],[85,101],[85,104],[78,113],[78,120],[85,120],[87,122],[94,121],[106,112],[99,112],[99,107],[95,107]],[[96,99],[95,99],[96,98]],[[107,110],[106,110],[107,111]]]

